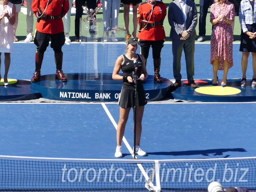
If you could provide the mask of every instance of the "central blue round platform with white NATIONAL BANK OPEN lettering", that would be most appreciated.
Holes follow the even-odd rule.
[[[45,99],[64,101],[118,101],[123,81],[112,79],[112,74],[103,74],[103,84],[80,84],[79,74],[64,74],[68,82],[55,80],[55,75],[41,76],[39,82],[31,82],[31,88],[42,94]],[[148,101],[169,98],[171,81],[163,78],[163,83],[154,82],[154,76],[148,76],[143,84]]]

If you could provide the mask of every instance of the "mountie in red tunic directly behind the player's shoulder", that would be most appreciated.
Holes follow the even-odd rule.
[[[145,25],[139,29],[138,38],[140,39],[141,54],[145,57],[146,63],[150,46],[152,47],[152,55],[154,60],[154,80],[162,83],[160,78],[161,50],[164,47],[164,18],[166,16],[166,5],[163,2],[149,0],[139,4],[137,18],[139,25],[142,20]]]

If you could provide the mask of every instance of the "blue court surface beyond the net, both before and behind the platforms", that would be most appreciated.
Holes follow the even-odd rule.
[[[63,46],[63,71],[79,72],[80,44]],[[234,67],[228,78],[241,77],[239,44],[233,46]],[[27,51],[24,60],[23,51]],[[15,43],[8,78],[30,79],[34,72],[36,47],[33,43]],[[99,53],[100,54],[100,53]],[[149,55],[148,74],[153,75]],[[209,64],[210,44],[196,44],[195,79],[212,78]],[[185,75],[184,55],[181,74]],[[252,76],[252,57],[248,60],[248,78]],[[3,65],[2,65],[3,69]],[[151,70],[152,69],[152,70]],[[54,74],[55,62],[49,47],[41,74]],[[220,75],[221,76],[220,71]],[[161,76],[172,79],[172,44],[164,44]],[[106,108],[103,108],[103,105]],[[145,159],[191,159],[249,157],[254,154],[255,103],[149,103],[143,117],[141,147]],[[0,104],[1,155],[112,159],[116,147],[119,106],[117,103],[30,103]],[[106,111],[109,111],[107,113]],[[111,117],[114,120],[111,121]],[[123,158],[131,158],[133,145],[132,112],[123,143]]]

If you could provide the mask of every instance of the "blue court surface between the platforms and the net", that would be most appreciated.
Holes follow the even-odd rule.
[[[116,103],[2,103],[0,111],[1,155],[116,159]],[[148,156],[138,158],[255,156],[254,111],[255,103],[149,103],[141,136]],[[132,158],[132,126],[131,113],[122,159]]]

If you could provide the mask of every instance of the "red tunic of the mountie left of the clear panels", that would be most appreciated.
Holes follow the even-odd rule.
[[[36,14],[37,8],[40,6],[42,12],[47,5],[47,0],[33,0],[32,1],[32,11]],[[63,13],[63,16],[69,10],[68,0],[52,0],[45,13],[49,16],[58,16]],[[58,19],[47,19],[46,21],[40,20],[39,23],[36,22],[36,30],[42,33],[56,34],[64,31],[62,17]]]

